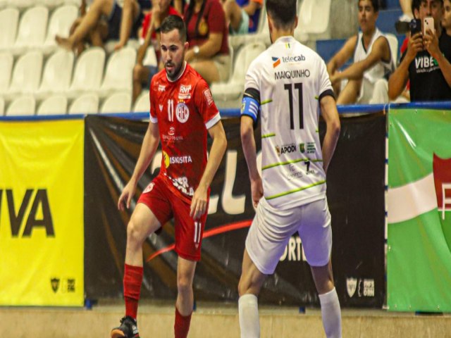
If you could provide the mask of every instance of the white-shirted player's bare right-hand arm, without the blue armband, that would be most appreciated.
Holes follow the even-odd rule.
[[[338,137],[340,137],[340,118],[338,117],[337,104],[333,96],[326,95],[320,101],[321,115],[326,121],[326,136],[323,141],[323,168],[327,169],[332,159],[335,146],[337,146]]]

